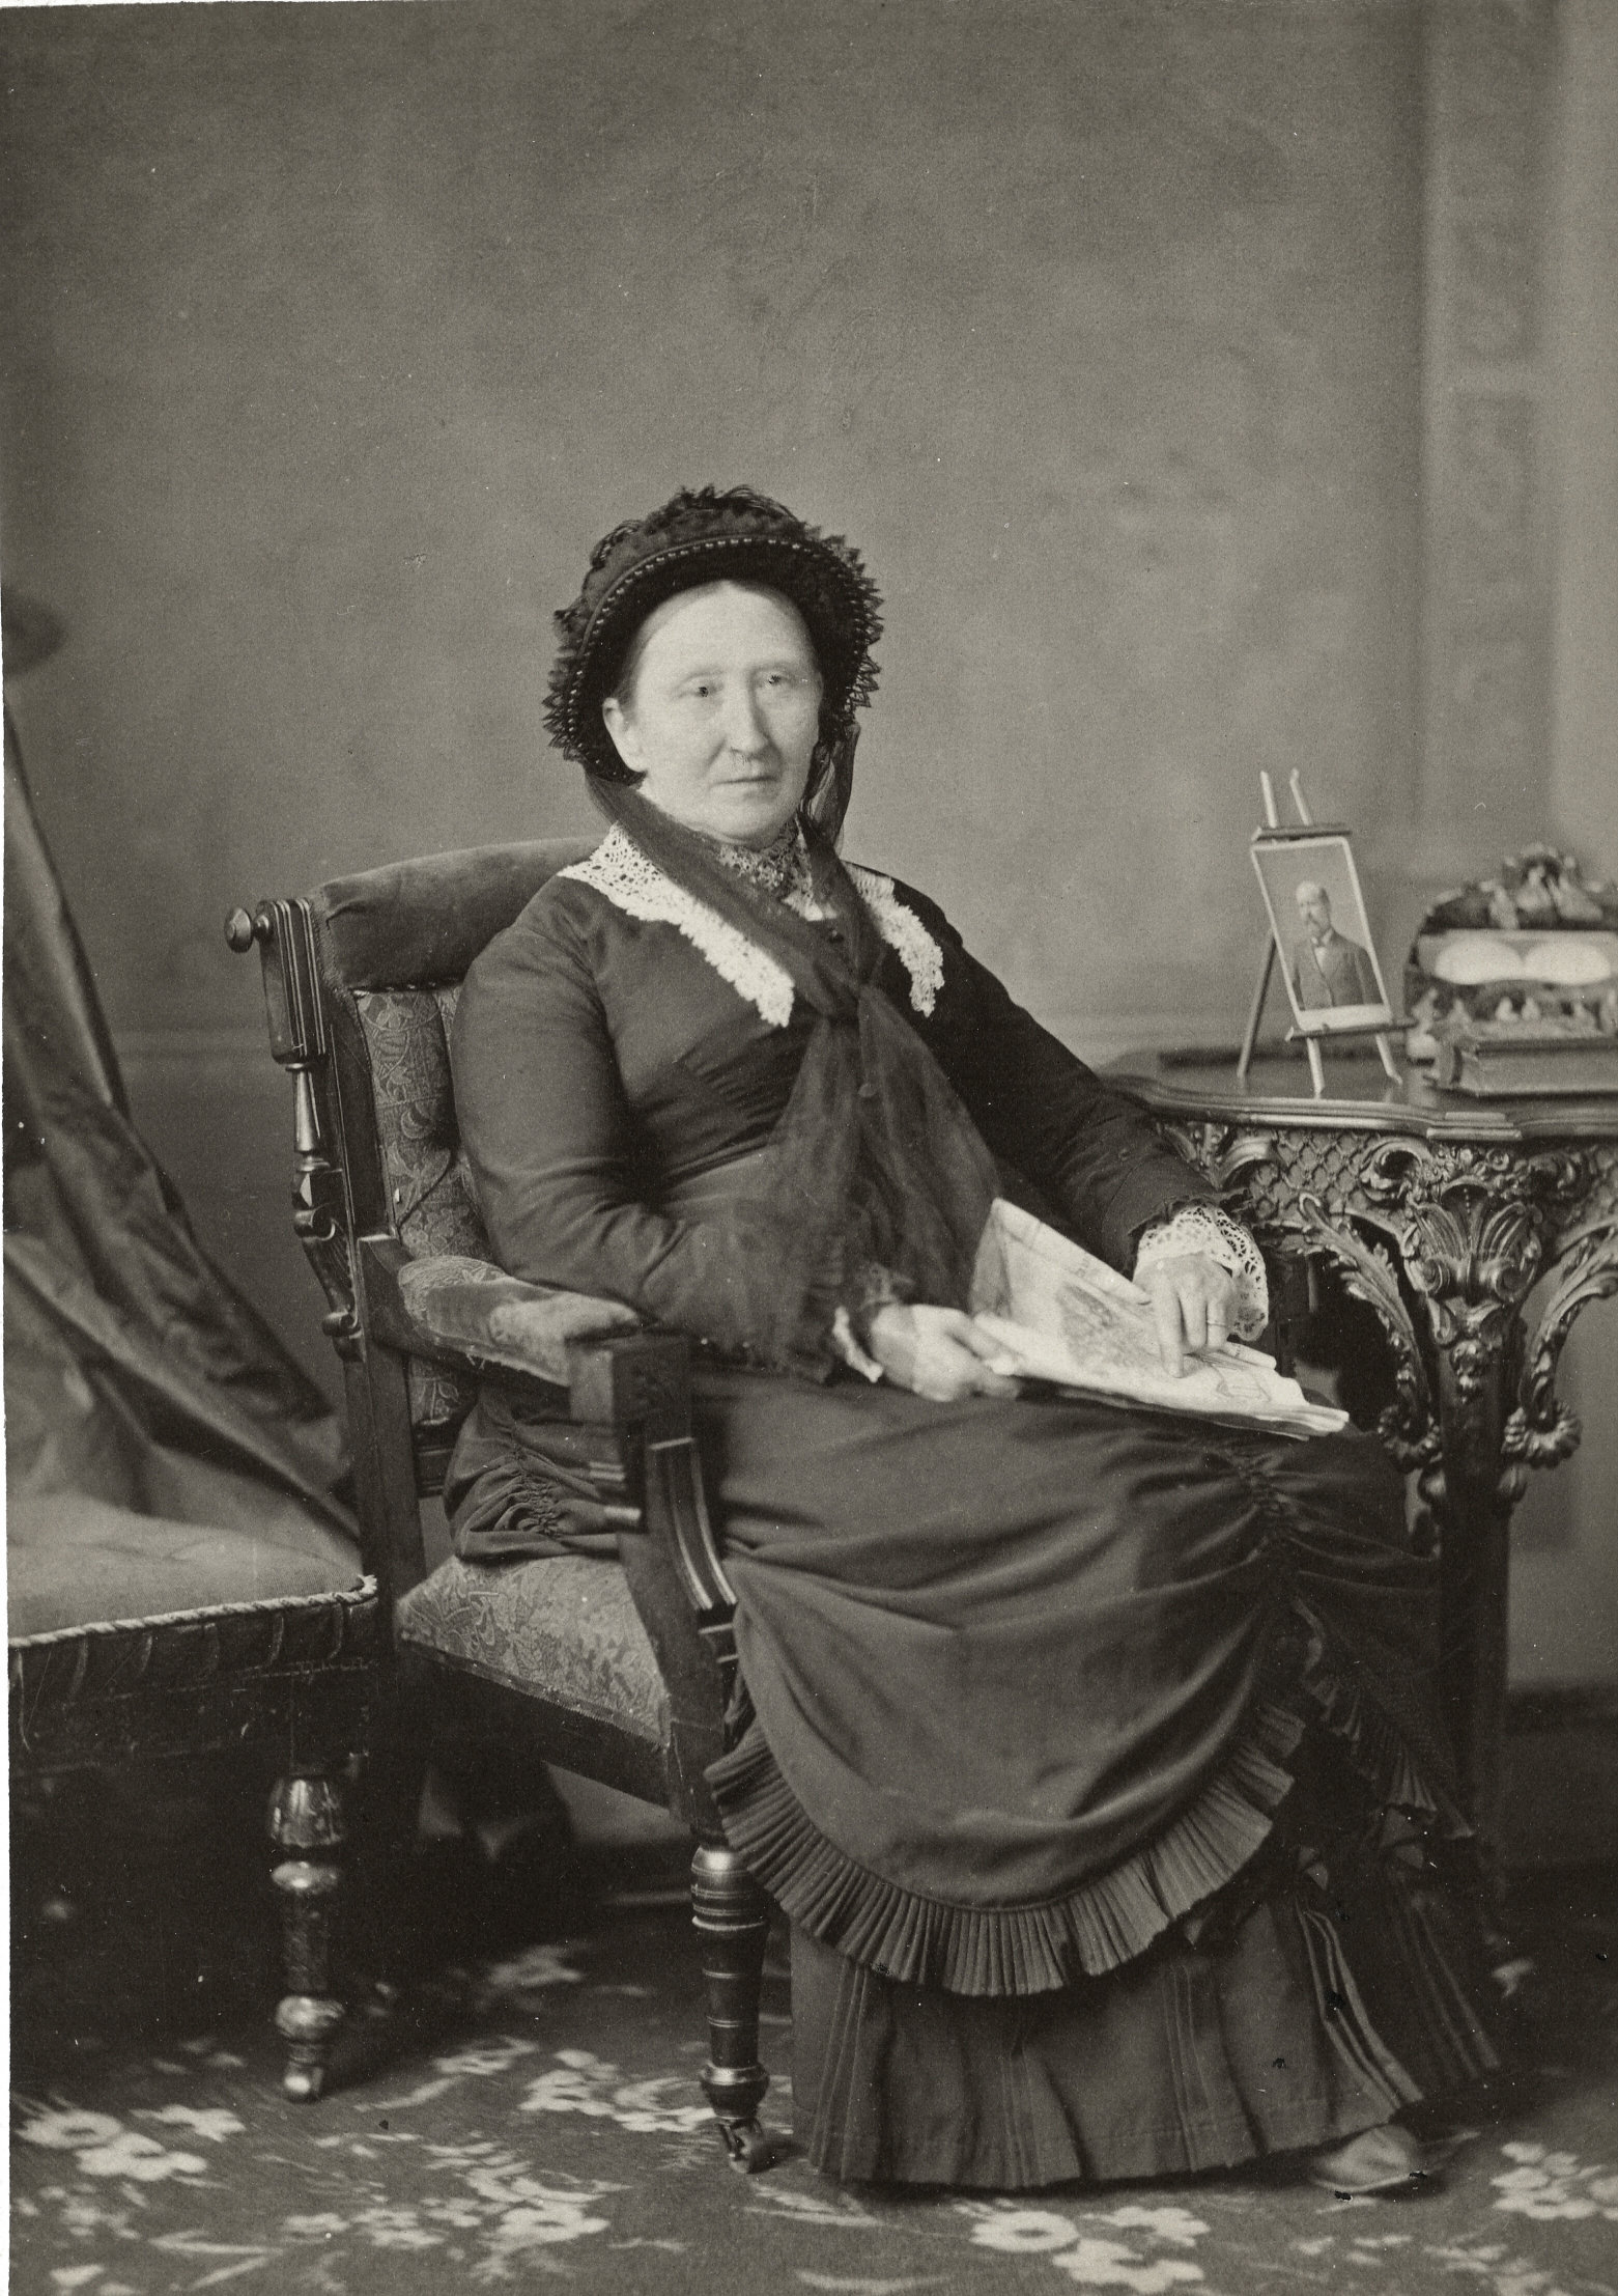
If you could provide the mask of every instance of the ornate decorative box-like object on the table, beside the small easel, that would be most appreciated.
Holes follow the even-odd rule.
[[[1528,845],[1485,877],[1444,893],[1428,909],[1405,960],[1405,1001],[1414,1019],[1411,1061],[1432,1061],[1441,1038],[1469,1035],[1487,1022],[1483,1042],[1503,1045],[1510,1031],[1572,1022],[1595,1031],[1618,1068],[1618,884],[1590,884],[1572,854]],[[1551,1040],[1565,1031],[1554,1029]],[[1522,1052],[1531,1047],[1522,1040]],[[1584,1047],[1597,1075],[1597,1047]],[[1551,1056],[1556,1061],[1556,1056]],[[1446,1063],[1448,1065],[1448,1063]],[[1489,1065],[1471,1063],[1471,1065]],[[1570,1075],[1565,1061],[1556,1061]],[[1453,1084],[1460,1091],[1487,1086]],[[1547,1065],[1535,1091],[1613,1091],[1613,1084],[1561,1084]],[[1528,1086],[1517,1086],[1528,1091]]]

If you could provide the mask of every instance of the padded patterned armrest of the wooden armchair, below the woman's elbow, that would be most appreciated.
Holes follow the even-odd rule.
[[[542,1290],[489,1261],[452,1254],[413,1261],[392,1235],[363,1235],[360,1261],[367,1325],[404,1355],[498,1364],[567,1387],[569,1343],[640,1329],[636,1311],[620,1300]]]

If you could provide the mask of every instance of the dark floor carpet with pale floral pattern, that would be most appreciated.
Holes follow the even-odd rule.
[[[1618,2296],[1611,1874],[1517,1892],[1535,1970],[1503,2011],[1512,2071],[1467,2103],[1439,2188],[1393,2202],[1340,2202],[1283,2165],[1017,2200],[838,2190],[789,2138],[780,1952],[764,2023],[780,2161],[737,2177],[695,2087],[691,1933],[656,1890],[597,1894],[576,1936],[443,1965],[409,2004],[372,1998],[340,2082],[294,2105],[257,1899],[232,1929],[218,1876],[197,1887],[170,1860],[156,1913],[115,1890],[73,1931],[48,1896],[37,1917],[37,1880],[23,1855],[16,2296],[436,2296],[539,2275],[659,2296]]]

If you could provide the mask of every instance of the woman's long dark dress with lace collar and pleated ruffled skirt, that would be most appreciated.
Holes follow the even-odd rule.
[[[856,872],[994,1155],[1111,1265],[1207,1185],[904,886]],[[1432,1568],[1379,1446],[748,1368],[737,1235],[803,1056],[769,962],[615,831],[454,1024],[496,1256],[709,1341],[744,1731],[711,1773],[792,1917],[794,2096],[845,2179],[1026,2188],[1313,2147],[1494,2060],[1457,1908]],[[468,1557],[590,1545],[487,1398]],[[1455,1874],[1450,1874],[1450,1867]]]

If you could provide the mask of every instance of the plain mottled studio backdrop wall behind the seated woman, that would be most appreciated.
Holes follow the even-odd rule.
[[[865,551],[847,850],[1092,1058],[1239,1033],[1260,767],[1354,824],[1391,987],[1524,838],[1618,868],[1609,0],[11,9],[0,60],[23,753],[138,1114],[326,1380],[220,921],[588,827],[549,618],[675,484]],[[1604,1316],[1519,1681],[1618,1674]]]

